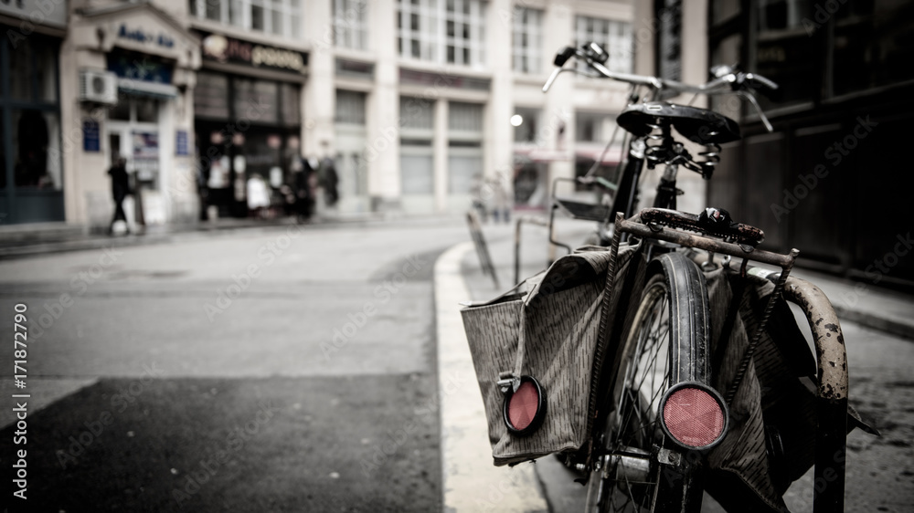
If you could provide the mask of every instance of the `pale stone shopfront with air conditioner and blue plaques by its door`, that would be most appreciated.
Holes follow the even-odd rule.
[[[110,225],[106,172],[118,158],[127,162],[138,224],[192,220],[198,206],[191,95],[199,41],[150,4],[105,5],[73,17],[61,58],[65,135],[74,140],[68,140],[74,151],[64,156],[74,183],[68,221]]]

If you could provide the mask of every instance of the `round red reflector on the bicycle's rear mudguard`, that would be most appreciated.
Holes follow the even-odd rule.
[[[680,443],[703,447],[724,431],[724,413],[717,400],[704,390],[684,387],[664,404],[666,429]]]

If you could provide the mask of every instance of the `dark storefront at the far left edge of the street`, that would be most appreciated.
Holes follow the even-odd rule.
[[[0,224],[64,220],[58,58],[66,3],[0,3]],[[19,21],[21,20],[21,21]],[[34,23],[33,23],[34,22]]]

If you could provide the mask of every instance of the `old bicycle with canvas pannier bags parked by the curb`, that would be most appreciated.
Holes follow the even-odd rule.
[[[564,68],[572,57],[585,62],[592,71]],[[558,382],[552,363],[532,361],[537,358],[537,351],[527,348],[532,342],[526,340],[536,337],[525,331],[530,322],[525,320],[525,315],[534,315],[525,313],[530,296],[508,294],[485,306],[495,312],[489,315],[499,316],[500,327],[520,326],[517,340],[512,340],[513,333],[505,334],[499,328],[503,331],[494,339],[503,340],[502,345],[514,352],[499,354],[495,359],[498,361],[492,361],[487,351],[501,350],[489,341],[476,340],[486,333],[480,330],[480,324],[471,321],[472,313],[464,315],[486,402],[496,464],[514,464],[547,453],[560,454],[568,466],[585,473],[587,511],[691,513],[701,508],[702,492],[706,489],[719,496],[718,500],[728,510],[777,510],[782,505],[782,502],[778,504],[778,494],[802,476],[813,462],[816,483],[822,480],[827,484],[822,490],[817,486],[814,511],[843,510],[849,410],[845,351],[834,309],[818,288],[790,277],[797,250],[779,255],[757,249],[764,239],[763,232],[734,222],[722,210],[708,208],[701,215],[675,210],[679,168],[710,178],[719,162],[720,145],[739,140],[739,125],[711,110],[667,103],[663,99],[670,94],[689,92],[737,94],[749,99],[771,131],[771,123],[754,97],[754,89],[776,89],[777,85],[759,75],[715,67],[712,68],[714,79],[691,86],[611,72],[603,66],[607,58],[608,54],[593,43],[580,48],[567,47],[558,53],[555,59],[558,68],[543,88],[547,91],[560,73],[569,71],[632,85],[630,105],[618,117],[618,125],[629,132],[623,146],[627,153],[620,164],[619,182],[611,183],[592,175],[601,157],[590,173],[579,180],[596,184],[605,194],[612,195],[612,201],[583,204],[554,198],[549,220],[551,225],[555,211],[561,209],[572,217],[598,221],[600,246],[608,246],[604,247],[609,255],[605,262],[606,282],[599,299],[599,330],[574,326],[580,340],[587,340],[589,332],[596,333],[592,351],[588,346],[588,353],[592,353],[590,380],[569,387]],[[641,88],[648,91],[642,95]],[[675,140],[674,131],[705,146],[705,151],[691,155],[682,142]],[[657,165],[664,166],[664,174],[657,186],[654,207],[636,214],[643,168]],[[551,227],[549,234],[550,242],[566,247],[571,253],[570,246],[552,240]],[[742,259],[739,268],[730,266],[734,258]],[[749,260],[780,267],[781,271],[771,273],[750,267]],[[542,284],[547,277],[555,277],[553,267],[530,292],[540,294],[537,299],[542,298]],[[570,281],[576,279],[572,277]],[[709,289],[714,293],[709,295]],[[505,303],[515,297],[522,299],[517,304]],[[724,297],[728,298],[726,310],[717,305]],[[798,331],[793,332],[790,326],[776,326],[778,319],[789,315],[789,309],[784,312],[786,305],[780,301],[781,297],[799,304],[810,321],[816,349],[815,372],[810,372],[809,365],[801,364],[808,360],[805,344],[806,353],[786,344],[788,339],[796,341]],[[637,300],[625,305],[625,298]],[[748,306],[744,306],[747,301]],[[710,306],[712,302],[715,308]],[[590,322],[590,318],[582,322]],[[561,320],[544,322],[554,330]],[[550,351],[540,352],[563,357],[580,354],[560,349]],[[784,357],[784,353],[790,358]],[[525,358],[530,360],[524,361]],[[515,359],[513,366],[508,363],[512,359]],[[757,373],[757,362],[763,359],[777,363],[774,365],[777,369],[762,369],[763,372]],[[504,372],[505,367],[513,370]],[[538,369],[539,380],[525,374],[531,369]],[[498,376],[497,387],[487,377],[493,370]],[[550,386],[540,383],[549,380]],[[777,403],[771,399],[771,392],[766,397],[760,392],[760,382],[788,398],[781,397],[781,403]],[[809,386],[807,382],[816,389],[812,395],[798,388]],[[585,426],[575,425],[572,431],[584,431],[586,442],[579,445],[581,437],[571,436],[561,443],[552,443],[548,440],[552,433],[537,435],[537,430],[554,428],[548,425],[551,419],[547,415],[547,403],[550,409],[556,409],[554,402],[547,401],[550,388],[552,396],[559,395],[558,409],[562,410],[567,406],[563,401],[568,402],[565,395],[569,388],[578,390],[582,383],[588,390],[587,418]],[[504,399],[500,402],[501,398]],[[762,399],[770,404],[763,408]],[[501,418],[494,418],[498,417],[499,407]],[[576,411],[574,406],[566,409]],[[811,409],[816,416],[805,421],[815,427],[790,424],[801,424],[790,418],[792,414]],[[738,414],[743,417],[739,418]],[[568,417],[575,418],[574,414]],[[851,417],[850,425],[868,428],[855,419]],[[506,430],[499,423],[504,423]],[[763,447],[753,447],[754,460],[750,463],[764,466],[768,475],[750,476],[757,478],[748,486],[758,497],[746,498],[739,504],[728,503],[733,499],[726,497],[727,490],[721,489],[724,486],[721,483],[730,476],[721,470],[724,468],[721,461],[717,461],[733,460],[739,452],[736,445],[742,438],[734,440],[731,428],[733,434],[746,435],[756,445],[759,430],[764,431]],[[806,450],[813,439],[814,454]],[[716,480],[706,480],[712,474]],[[736,475],[744,479],[746,476]],[[765,489],[760,491],[760,488]]]

